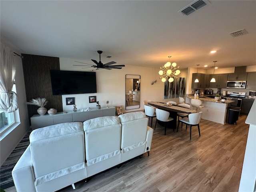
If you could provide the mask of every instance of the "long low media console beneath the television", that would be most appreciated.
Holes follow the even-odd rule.
[[[116,115],[116,108],[110,106],[108,108],[102,107],[101,109],[92,108],[89,111],[66,111],[66,112],[57,112],[55,115],[33,115],[31,120],[31,128],[32,130],[46,127],[49,125],[55,125],[59,123],[66,123],[66,122],[74,122],[74,121],[86,121],[88,119],[93,119],[96,117],[103,117],[103,116],[115,116]]]

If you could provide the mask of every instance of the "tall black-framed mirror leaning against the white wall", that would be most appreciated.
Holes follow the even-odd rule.
[[[129,99],[130,93],[128,93],[128,90],[127,90],[128,87],[130,90],[130,85],[127,84],[128,79],[132,79],[132,92],[134,95],[136,95],[136,100],[138,100],[138,104],[130,105],[130,99]],[[136,79],[136,82],[134,82],[134,79]],[[139,83],[137,83],[137,81],[139,81]],[[140,108],[140,75],[126,74],[125,75],[125,110],[138,109],[138,108]]]

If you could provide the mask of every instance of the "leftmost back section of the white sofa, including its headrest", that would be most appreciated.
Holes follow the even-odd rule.
[[[82,123],[62,123],[33,130],[30,150],[36,186],[85,169]]]

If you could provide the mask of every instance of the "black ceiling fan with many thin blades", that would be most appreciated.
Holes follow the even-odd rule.
[[[97,51],[98,54],[102,54],[102,51]],[[94,68],[97,68],[96,70],[98,69],[108,69],[108,70],[111,70],[111,69],[122,69],[122,67],[125,67],[125,65],[112,65],[112,64],[115,64],[116,62],[114,61],[111,61],[111,62],[108,62],[106,64],[103,64],[101,62],[101,60],[99,62],[97,62],[96,60],[93,60],[92,61],[96,64],[96,65],[91,65],[91,64],[88,64],[88,63],[83,63],[83,62],[79,62],[79,61],[75,61],[75,62],[78,62],[78,63],[83,63],[83,64],[86,64],[86,65],[73,65],[73,66],[87,66],[85,68],[91,68],[91,67],[94,67]]]

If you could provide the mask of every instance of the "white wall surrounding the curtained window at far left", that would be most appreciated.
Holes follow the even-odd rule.
[[[1,38],[1,42],[8,46],[12,51],[20,54],[20,50],[15,46],[8,44]],[[6,132],[0,136],[0,165],[4,163],[6,158],[10,155],[12,150],[17,146],[20,140],[25,136],[28,131],[29,121],[28,121],[28,108],[25,104],[26,102],[26,92],[25,92],[25,83],[22,69],[22,60],[18,56],[14,57],[16,63],[16,93],[18,95],[18,104],[19,108],[16,111],[16,116],[20,117],[16,119],[16,122],[20,122],[15,129],[10,129],[9,132]]]

